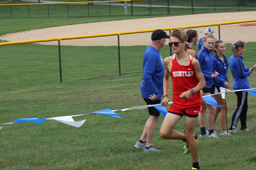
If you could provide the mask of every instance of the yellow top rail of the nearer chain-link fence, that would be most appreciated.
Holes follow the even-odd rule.
[[[161,28],[161,29],[164,31],[167,31],[167,30],[174,30],[176,28],[188,29],[188,28],[198,28],[198,27],[220,26],[220,25],[227,25],[227,24],[238,24],[238,23],[244,23],[244,22],[256,22],[256,19],[232,21],[232,22],[220,22],[220,23],[213,23],[213,24],[201,24],[201,25],[194,25],[194,26],[177,26],[177,27]],[[153,32],[154,30],[156,29],[126,31],[126,32],[118,32],[118,33],[103,33],[103,34],[93,34],[93,35],[80,35],[80,36],[72,36],[72,37],[47,38],[47,39],[28,40],[28,41],[2,42],[0,43],[0,46],[14,45],[14,44],[27,44],[27,43],[35,43],[35,42],[72,40],[72,39],[81,39],[81,38],[104,37],[104,36],[124,35],[124,34],[132,34],[132,33],[148,33],[148,32]]]

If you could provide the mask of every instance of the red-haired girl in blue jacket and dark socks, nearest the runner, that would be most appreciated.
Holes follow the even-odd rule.
[[[201,70],[204,74],[204,79],[206,81],[205,87],[201,91],[201,95],[205,96],[211,94],[212,87],[212,78],[215,78],[219,75],[217,71],[214,73],[213,71],[213,60],[212,60],[212,49],[214,48],[215,38],[212,34],[207,34],[204,38],[204,47],[198,51],[196,54],[196,58],[200,63]],[[213,130],[214,124],[214,111],[215,107],[207,104],[204,100],[202,112],[199,113],[199,124],[201,134],[199,137],[217,137],[217,133]],[[205,112],[208,108],[207,122],[208,122],[208,130],[205,129]]]

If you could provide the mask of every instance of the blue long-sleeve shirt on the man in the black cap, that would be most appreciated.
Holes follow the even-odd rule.
[[[161,99],[164,81],[164,63],[160,51],[148,46],[144,53],[142,84],[140,86],[141,96],[148,99],[150,95],[157,95]]]

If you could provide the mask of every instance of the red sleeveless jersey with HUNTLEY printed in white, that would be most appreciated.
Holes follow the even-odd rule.
[[[192,94],[188,100],[180,98],[180,94],[189,89],[196,87],[199,83],[196,78],[196,71],[192,64],[192,56],[188,55],[190,64],[188,66],[180,65],[175,54],[172,57],[172,70],[170,75],[172,77],[172,102],[180,105],[180,108],[196,107],[202,105],[200,91]]]

